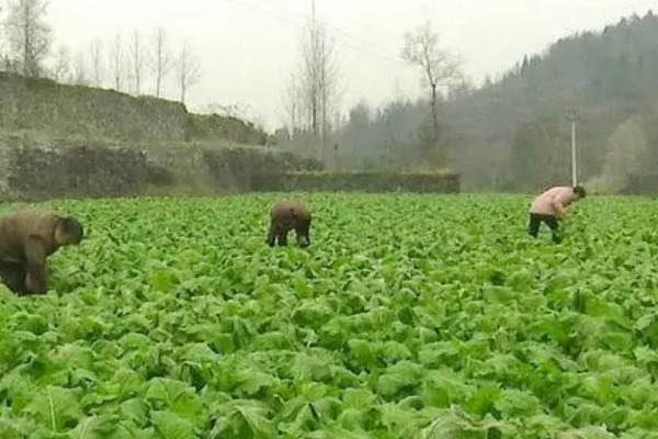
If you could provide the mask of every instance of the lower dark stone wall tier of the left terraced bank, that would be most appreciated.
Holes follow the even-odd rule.
[[[252,190],[275,170],[321,165],[263,147],[86,146],[0,137],[0,198],[208,194]]]

